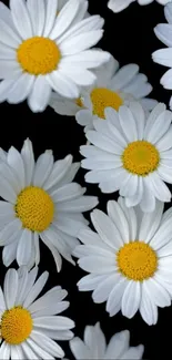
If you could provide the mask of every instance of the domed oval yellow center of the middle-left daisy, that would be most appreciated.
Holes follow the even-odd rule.
[[[49,227],[54,214],[52,198],[37,186],[26,187],[18,195],[14,209],[24,228],[39,233]]]

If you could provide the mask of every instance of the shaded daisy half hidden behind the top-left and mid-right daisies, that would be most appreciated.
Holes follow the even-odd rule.
[[[94,119],[104,119],[108,106],[119,111],[122,104],[138,100],[144,110],[150,111],[156,101],[145,96],[152,91],[144,74],[139,73],[136,64],[119,68],[119,62],[111,55],[110,61],[94,71],[97,82],[81,89],[79,99],[69,100],[53,93],[50,105],[61,115],[75,115],[77,122],[88,128],[93,127]]]

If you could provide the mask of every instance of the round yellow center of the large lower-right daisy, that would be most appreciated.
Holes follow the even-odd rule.
[[[120,272],[135,281],[149,279],[158,268],[155,251],[142,241],[125,244],[118,251],[117,261]]]

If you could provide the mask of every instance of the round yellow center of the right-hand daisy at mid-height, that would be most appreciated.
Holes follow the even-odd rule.
[[[123,167],[140,176],[154,172],[160,163],[160,154],[154,145],[146,141],[130,143],[122,154]]]

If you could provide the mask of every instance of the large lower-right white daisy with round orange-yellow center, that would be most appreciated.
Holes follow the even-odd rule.
[[[79,282],[80,291],[93,290],[97,304],[107,301],[112,317],[120,310],[131,319],[139,310],[148,325],[158,321],[158,307],[171,305],[172,208],[163,213],[128,208],[124,199],[108,202],[108,215],[95,209],[91,219],[97,233],[81,230],[74,255],[90,272]]]

